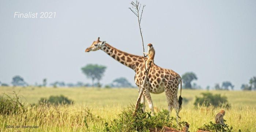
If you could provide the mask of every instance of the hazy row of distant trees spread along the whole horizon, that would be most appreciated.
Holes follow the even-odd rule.
[[[107,67],[103,65],[98,64],[87,64],[86,66],[82,67],[82,73],[89,79],[91,79],[91,83],[83,83],[81,81],[78,81],[76,83],[65,83],[64,81],[55,81],[50,83],[50,86],[53,86],[54,88],[57,87],[102,87],[102,84],[100,83],[102,77],[104,76],[104,73],[106,71]],[[182,75],[182,88],[185,89],[202,89],[200,85],[197,85],[196,81],[197,75],[193,72],[186,72]],[[95,83],[95,81],[97,81]],[[25,80],[20,77],[19,75],[16,75],[12,78],[11,84],[13,86],[29,86]],[[8,86],[6,83],[0,82],[1,86]],[[47,86],[47,79],[44,78],[42,80],[42,84],[35,84],[35,86],[38,87],[46,87]],[[126,78],[120,77],[114,79],[110,84],[107,84],[104,86],[105,88],[132,88],[134,87]],[[219,83],[216,83],[213,87],[215,90],[233,90],[234,85],[230,81],[224,81],[220,85]],[[206,87],[207,90],[210,90],[210,86]],[[249,80],[249,84],[242,84],[241,85],[242,90],[256,90],[256,77],[252,77]]]

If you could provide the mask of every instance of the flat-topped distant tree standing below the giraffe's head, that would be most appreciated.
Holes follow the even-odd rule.
[[[94,80],[97,79],[99,84],[99,81],[102,79],[106,68],[107,67],[103,65],[87,64],[86,66],[82,67],[81,70],[87,78],[91,79],[92,86],[94,86]]]

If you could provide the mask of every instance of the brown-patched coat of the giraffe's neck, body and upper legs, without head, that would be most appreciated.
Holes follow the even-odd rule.
[[[134,76],[134,80],[137,86],[143,83],[143,80],[146,76],[144,73],[144,57],[124,53],[123,51],[117,50],[116,48],[109,46],[108,44],[106,44],[102,49],[120,63],[127,65],[135,70],[136,74]],[[147,60],[147,58],[145,59]],[[142,70],[140,70],[141,67]],[[150,92],[165,92],[169,110],[172,110],[172,108],[176,108],[176,105],[174,104],[177,104],[177,91],[178,85],[180,84],[181,80],[180,75],[175,73],[173,70],[163,69],[157,65],[154,65],[153,68],[154,69],[150,70],[150,72],[148,73],[148,79],[145,90],[143,92],[143,98],[148,101],[148,104],[151,104],[151,106],[153,106]]]

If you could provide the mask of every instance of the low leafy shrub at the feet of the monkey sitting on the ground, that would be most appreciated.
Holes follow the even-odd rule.
[[[224,120],[225,124],[226,120]],[[208,124],[204,124],[203,127],[198,128],[199,130],[203,131],[211,131],[211,132],[232,132],[233,127],[229,127],[229,125],[225,124],[226,126],[222,126],[221,124],[215,124],[210,121]]]

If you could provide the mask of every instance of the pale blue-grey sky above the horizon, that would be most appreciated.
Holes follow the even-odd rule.
[[[29,84],[91,82],[80,68],[88,63],[108,67],[108,84],[134,72],[103,51],[84,53],[97,39],[141,55],[141,39],[131,1],[0,1],[0,81],[21,75]],[[153,43],[155,63],[184,74],[197,74],[205,88],[231,81],[235,89],[256,75],[256,1],[140,1],[145,43]],[[14,12],[56,12],[55,19],[18,19]]]

